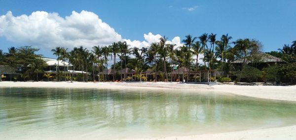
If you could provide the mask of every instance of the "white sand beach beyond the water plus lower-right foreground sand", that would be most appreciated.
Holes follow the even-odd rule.
[[[256,98],[285,100],[296,102],[296,86],[238,86],[238,85],[202,85],[181,83],[93,83],[93,82],[0,82],[0,87],[69,87],[100,89],[146,89],[146,90],[207,90],[227,92]],[[219,134],[194,136],[130,139],[130,140],[296,140],[296,125],[280,128],[246,130]]]

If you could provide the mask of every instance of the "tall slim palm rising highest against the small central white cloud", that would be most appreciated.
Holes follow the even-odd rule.
[[[158,47],[158,53],[160,55],[160,58],[162,58],[162,64],[163,64],[163,71],[165,73],[166,79],[168,79],[168,73],[166,70],[166,57],[167,57],[167,48],[165,45],[167,38],[165,36],[160,37],[159,47]],[[163,79],[165,81],[165,78]]]

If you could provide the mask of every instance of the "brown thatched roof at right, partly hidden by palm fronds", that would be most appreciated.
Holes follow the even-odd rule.
[[[277,58],[275,56],[272,56],[272,55],[266,54],[266,53],[259,53],[258,56],[261,57],[259,60],[259,62],[261,62],[261,63],[284,62],[280,58]],[[233,61],[231,63],[243,63],[243,62],[244,62],[244,59],[239,59],[239,60]],[[249,63],[251,63],[251,61],[248,60],[248,58],[247,58],[246,63],[249,64]]]

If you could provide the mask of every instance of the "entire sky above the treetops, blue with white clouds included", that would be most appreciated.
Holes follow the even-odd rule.
[[[203,33],[252,38],[276,51],[296,40],[296,0],[0,0],[0,49],[51,49],[127,41],[147,47],[160,36],[182,45]]]

